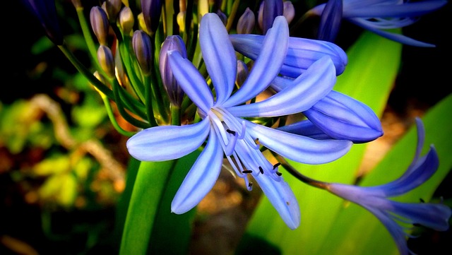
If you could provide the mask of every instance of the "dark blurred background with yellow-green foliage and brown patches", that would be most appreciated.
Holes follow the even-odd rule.
[[[305,8],[303,1],[293,2],[296,10]],[[0,254],[115,254],[116,205],[129,163],[126,137],[110,124],[99,94],[44,36],[20,1],[4,4]],[[65,40],[90,66],[71,1],[57,1],[57,7]],[[415,117],[452,92],[451,14],[448,4],[403,30],[437,47],[403,47],[400,75],[381,117],[385,135],[374,143],[375,151],[390,148]],[[361,32],[343,23],[337,44],[347,49]],[[295,36],[310,37],[312,31],[300,30]],[[119,124],[133,130],[126,121]],[[450,174],[436,193],[451,198]],[[242,182],[222,173],[198,206],[191,253],[231,254],[259,196],[256,189],[249,193]],[[448,231],[409,243],[448,247],[450,241]]]

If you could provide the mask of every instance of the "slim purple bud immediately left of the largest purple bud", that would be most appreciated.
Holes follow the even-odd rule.
[[[133,52],[144,74],[149,74],[152,68],[153,49],[149,35],[143,30],[136,30],[132,37]]]

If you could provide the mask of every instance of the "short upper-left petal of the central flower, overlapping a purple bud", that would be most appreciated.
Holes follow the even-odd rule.
[[[182,90],[203,112],[208,112],[210,107],[213,106],[213,96],[198,69],[177,51],[168,52],[168,60],[174,78],[176,78]]]

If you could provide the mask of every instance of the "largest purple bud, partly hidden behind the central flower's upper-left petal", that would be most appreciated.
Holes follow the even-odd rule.
[[[160,74],[162,76],[163,87],[168,93],[169,101],[173,105],[181,106],[182,98],[184,97],[184,91],[179,86],[174,78],[171,68],[169,67],[168,54],[167,52],[177,51],[182,57],[186,58],[186,48],[184,40],[179,35],[171,35],[162,44],[162,49],[160,49],[160,60],[159,68]]]

